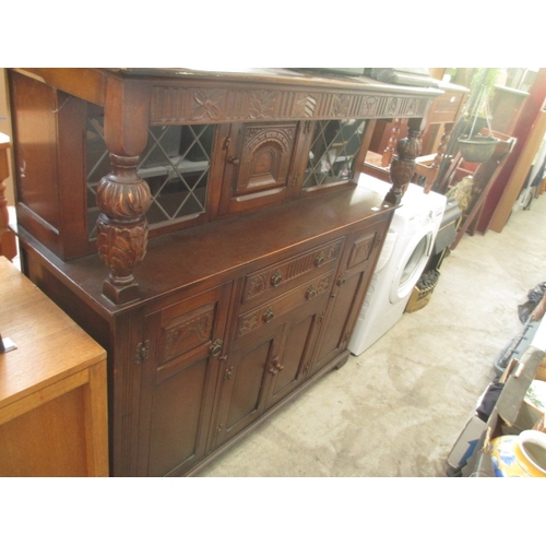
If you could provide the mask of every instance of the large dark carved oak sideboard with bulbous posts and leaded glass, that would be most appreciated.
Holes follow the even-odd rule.
[[[441,92],[284,69],[9,81],[24,272],[107,349],[111,475],[195,474],[346,361]],[[356,183],[379,118],[411,123],[387,195]]]

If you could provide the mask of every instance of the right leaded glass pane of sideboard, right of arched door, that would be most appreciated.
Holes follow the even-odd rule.
[[[318,121],[314,126],[304,188],[351,180],[354,158],[360,149],[366,121],[343,119]]]

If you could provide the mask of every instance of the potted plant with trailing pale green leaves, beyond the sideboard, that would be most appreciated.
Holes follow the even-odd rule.
[[[484,163],[489,159],[499,142],[499,139],[492,135],[489,111],[489,100],[499,70],[479,69],[472,80],[472,94],[464,114],[462,135],[458,141],[461,155],[470,163]],[[485,128],[489,134],[479,134]]]

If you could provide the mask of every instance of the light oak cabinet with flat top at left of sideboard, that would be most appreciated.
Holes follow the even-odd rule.
[[[0,257],[0,476],[107,476],[106,353]]]

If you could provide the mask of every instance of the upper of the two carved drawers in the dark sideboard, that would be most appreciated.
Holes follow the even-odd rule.
[[[319,269],[336,263],[343,249],[343,239],[341,237],[247,275],[242,304],[254,304],[260,296],[277,296],[289,289],[295,282],[305,282],[306,277],[312,278]]]

